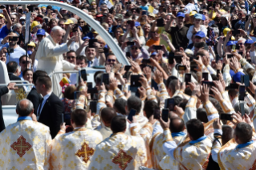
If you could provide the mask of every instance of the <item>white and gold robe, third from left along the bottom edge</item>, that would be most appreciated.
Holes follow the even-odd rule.
[[[113,134],[98,144],[95,149],[90,170],[135,170],[145,166],[147,162],[143,139],[138,136],[127,136],[123,132]]]

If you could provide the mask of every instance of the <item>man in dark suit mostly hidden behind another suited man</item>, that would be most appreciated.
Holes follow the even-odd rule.
[[[33,83],[35,84],[36,79],[39,78],[39,76],[47,75],[46,71],[35,71],[33,74]],[[34,113],[37,115],[39,104],[42,98],[42,96],[36,91],[35,86],[32,87],[30,93],[27,95],[26,99],[29,99],[33,105],[34,105]]]

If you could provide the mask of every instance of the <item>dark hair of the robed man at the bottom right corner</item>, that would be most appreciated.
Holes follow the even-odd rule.
[[[242,144],[249,142],[253,136],[253,128],[250,126],[250,124],[245,122],[238,123],[234,132],[235,136],[238,137]]]

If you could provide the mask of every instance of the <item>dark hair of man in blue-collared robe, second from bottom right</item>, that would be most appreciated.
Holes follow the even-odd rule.
[[[193,140],[197,140],[205,135],[205,127],[199,119],[189,119],[186,123],[187,131]]]

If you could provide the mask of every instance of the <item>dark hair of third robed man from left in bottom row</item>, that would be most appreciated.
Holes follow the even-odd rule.
[[[126,119],[124,115],[116,115],[111,121],[111,130],[113,133],[124,132],[126,129]]]

